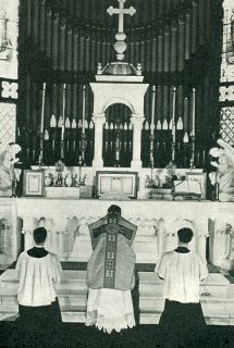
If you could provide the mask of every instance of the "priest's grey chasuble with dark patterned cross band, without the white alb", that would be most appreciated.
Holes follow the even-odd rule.
[[[87,277],[90,288],[128,290],[134,287],[135,253],[133,244],[137,226],[118,214],[110,214],[89,225],[93,256]]]

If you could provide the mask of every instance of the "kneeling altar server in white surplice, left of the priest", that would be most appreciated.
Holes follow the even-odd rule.
[[[62,271],[58,257],[44,248],[47,229],[34,229],[34,248],[23,251],[16,263],[19,322],[27,330],[52,331],[61,323],[56,291]]]

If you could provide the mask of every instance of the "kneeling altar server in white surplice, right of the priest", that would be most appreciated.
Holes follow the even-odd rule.
[[[190,228],[177,232],[178,246],[164,253],[159,277],[164,279],[164,310],[159,324],[167,333],[167,347],[194,347],[204,333],[205,319],[199,301],[199,284],[208,276],[206,262],[188,249]]]

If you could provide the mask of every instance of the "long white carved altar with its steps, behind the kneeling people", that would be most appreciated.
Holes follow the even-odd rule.
[[[85,320],[87,287],[86,262],[91,253],[88,224],[103,216],[113,201],[98,199],[16,198],[0,200],[11,207],[11,225],[1,231],[5,245],[1,263],[14,264],[20,251],[33,246],[33,229],[46,226],[46,248],[56,252],[63,265],[62,282],[58,287],[63,321]],[[209,324],[233,325],[234,269],[232,203],[211,201],[114,201],[122,215],[137,225],[133,244],[136,272],[139,277],[140,323],[157,323],[163,309],[162,282],[157,276],[157,264],[163,252],[177,244],[176,229],[190,226],[194,231],[192,249],[209,264],[210,274],[200,287],[205,318]],[[9,214],[2,215],[9,221]],[[21,224],[16,224],[21,222]],[[17,227],[16,227],[17,226]],[[14,265],[0,276],[0,313],[2,320],[17,314],[17,278]]]

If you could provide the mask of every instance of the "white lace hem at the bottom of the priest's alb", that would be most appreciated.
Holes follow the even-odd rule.
[[[104,318],[104,315],[98,314],[98,311],[91,311],[87,312],[85,325],[96,325],[98,330],[103,330],[104,333],[110,334],[113,330],[120,333],[121,330],[132,328],[136,323],[133,313],[115,318]]]

